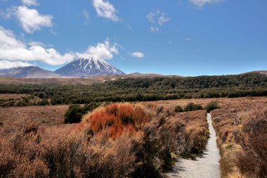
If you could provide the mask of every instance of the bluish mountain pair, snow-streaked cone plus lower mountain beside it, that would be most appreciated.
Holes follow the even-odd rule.
[[[41,69],[37,66],[8,68],[0,70],[0,77],[15,78],[84,78],[100,75],[124,75],[121,70],[110,65],[102,59],[77,58],[55,72]]]

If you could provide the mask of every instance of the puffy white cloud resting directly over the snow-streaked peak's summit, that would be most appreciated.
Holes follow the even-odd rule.
[[[79,58],[95,58],[95,59],[111,59],[113,54],[119,54],[117,44],[110,44],[106,39],[103,43],[98,43],[96,46],[89,46],[84,53],[76,53]]]

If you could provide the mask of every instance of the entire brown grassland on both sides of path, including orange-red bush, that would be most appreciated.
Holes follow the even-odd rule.
[[[253,97],[112,103],[77,124],[68,106],[0,108],[0,177],[160,177],[209,136],[206,110],[174,108],[211,101],[223,177],[266,176],[267,98]]]

